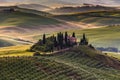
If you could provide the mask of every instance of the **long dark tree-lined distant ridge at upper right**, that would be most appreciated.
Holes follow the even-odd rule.
[[[100,5],[85,5],[81,7],[60,7],[50,10],[50,13],[53,14],[71,14],[71,13],[79,13],[79,12],[89,12],[89,11],[109,11],[115,10],[112,7],[105,7]]]

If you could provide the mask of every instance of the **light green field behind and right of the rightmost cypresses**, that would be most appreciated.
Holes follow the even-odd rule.
[[[78,39],[86,33],[89,42],[95,46],[116,47],[120,49],[120,26],[108,26],[97,29],[73,30]],[[70,31],[73,32],[73,31]]]

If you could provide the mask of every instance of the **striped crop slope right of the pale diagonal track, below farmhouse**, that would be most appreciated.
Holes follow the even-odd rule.
[[[81,50],[83,50],[83,48]],[[86,56],[81,50],[70,50],[68,52],[60,53],[58,55],[51,56],[48,58],[50,60],[55,60],[56,62],[61,62],[63,64],[77,68],[78,71],[81,70],[87,72],[85,80],[91,80],[91,77],[93,76],[91,76],[90,74],[96,76],[97,80],[120,79],[119,70],[113,69],[112,67],[108,67],[101,61]],[[88,54],[93,55],[94,52],[89,51]]]

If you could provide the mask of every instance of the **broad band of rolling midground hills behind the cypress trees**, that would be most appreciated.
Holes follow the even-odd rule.
[[[16,11],[12,13],[0,13],[0,34],[4,37],[9,36],[7,39],[4,38],[4,40],[8,41],[12,39],[12,41],[8,42],[13,45],[23,44],[24,42],[26,44],[26,41],[34,42],[41,38],[43,33],[49,35],[58,31],[74,29],[74,32],[78,34],[78,38],[83,33],[86,33],[90,38],[90,42],[97,47],[111,46],[120,49],[118,45],[120,39],[117,36],[111,37],[111,34],[119,36],[119,26],[92,29],[90,31],[87,29],[93,28],[94,26],[119,25],[120,11],[97,11],[54,16],[46,12],[19,8],[16,6],[12,8],[15,8]],[[107,31],[101,33],[102,30]],[[104,38],[102,39],[103,35]]]

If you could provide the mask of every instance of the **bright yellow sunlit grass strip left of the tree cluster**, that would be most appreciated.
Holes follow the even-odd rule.
[[[32,56],[33,53],[28,49],[31,45],[5,47],[0,49],[0,57],[17,57],[17,56]]]

